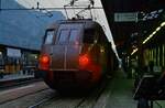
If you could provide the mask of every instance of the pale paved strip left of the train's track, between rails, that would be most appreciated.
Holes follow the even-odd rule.
[[[43,82],[37,82],[24,86],[13,87],[0,91],[0,106],[10,101],[19,100],[23,97],[35,95],[50,89]],[[1,107],[0,107],[1,108]]]

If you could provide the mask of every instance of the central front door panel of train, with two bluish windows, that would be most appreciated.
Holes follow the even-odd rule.
[[[52,68],[59,71],[77,69],[80,51],[81,23],[61,24],[53,45]]]

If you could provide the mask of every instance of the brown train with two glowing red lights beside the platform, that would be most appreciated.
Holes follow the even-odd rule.
[[[114,54],[102,26],[92,20],[61,20],[43,37],[38,69],[53,89],[89,89],[111,75]]]

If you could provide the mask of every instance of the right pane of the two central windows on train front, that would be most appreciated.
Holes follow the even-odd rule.
[[[78,43],[79,42],[78,32],[79,31],[77,29],[74,29],[70,31],[69,43]]]

